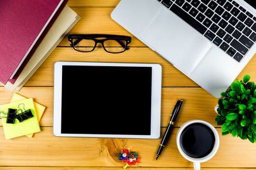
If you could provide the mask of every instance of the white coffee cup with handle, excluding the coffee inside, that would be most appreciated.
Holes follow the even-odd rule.
[[[189,155],[187,155],[182,150],[182,148],[180,146],[180,136],[181,136],[182,132],[184,131],[184,129],[186,129],[186,127],[188,127],[188,125],[196,124],[196,123],[207,125],[212,130],[212,132],[214,134],[214,137],[215,137],[215,143],[214,143],[214,146],[212,148],[212,151],[208,155],[206,155],[205,157],[202,157],[202,158],[189,157]],[[179,131],[177,133],[176,142],[177,142],[177,146],[178,146],[180,154],[185,159],[187,159],[187,160],[189,160],[189,161],[194,163],[194,169],[195,170],[199,170],[200,169],[200,163],[205,162],[205,161],[211,159],[216,154],[216,152],[218,151],[218,148],[219,148],[219,145],[220,145],[220,138],[219,138],[219,134],[216,131],[216,129],[211,124],[209,124],[208,122],[205,122],[205,121],[202,121],[202,120],[191,120],[189,122],[186,122],[185,124],[183,124],[180,127],[180,129],[179,129]]]

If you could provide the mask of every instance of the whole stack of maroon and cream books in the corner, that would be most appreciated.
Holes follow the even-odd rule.
[[[20,90],[80,17],[67,0],[0,1],[0,82]]]

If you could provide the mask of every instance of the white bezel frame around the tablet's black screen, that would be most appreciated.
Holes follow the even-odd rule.
[[[123,134],[62,134],[61,133],[61,90],[62,66],[124,66],[124,67],[152,67],[152,97],[151,97],[151,132],[150,135],[123,135]],[[90,137],[90,138],[140,138],[158,139],[161,130],[161,83],[162,66],[160,64],[136,63],[106,63],[106,62],[56,62],[54,64],[54,117],[53,134],[63,137]],[[83,89],[81,89],[83,90]]]

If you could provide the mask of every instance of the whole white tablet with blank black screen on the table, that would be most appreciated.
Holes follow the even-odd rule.
[[[160,137],[160,64],[56,62],[55,136]]]

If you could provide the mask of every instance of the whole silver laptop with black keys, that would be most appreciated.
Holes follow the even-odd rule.
[[[111,17],[214,97],[256,52],[255,0],[122,0]]]

